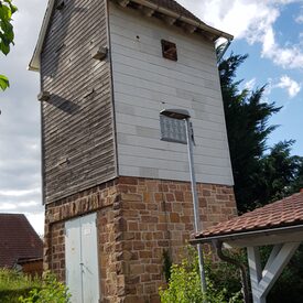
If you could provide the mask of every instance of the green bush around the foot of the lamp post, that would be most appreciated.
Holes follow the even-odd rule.
[[[217,267],[219,268],[219,266]],[[216,271],[210,262],[206,261],[207,295],[204,296],[201,289],[199,268],[197,253],[193,248],[188,249],[187,258],[181,264],[173,264],[167,289],[160,289],[162,303],[201,303],[204,299],[210,303],[238,303],[242,302],[240,292],[228,293],[226,288],[215,284]],[[212,274],[209,272],[212,271]],[[225,272],[225,279],[230,272]],[[212,280],[209,278],[213,278]],[[215,286],[216,285],[216,286]]]

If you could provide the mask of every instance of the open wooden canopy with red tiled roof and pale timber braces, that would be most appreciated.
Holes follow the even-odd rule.
[[[303,241],[303,191],[206,229],[192,244],[247,248],[253,303],[266,303],[272,285]],[[272,245],[261,268],[259,247]]]

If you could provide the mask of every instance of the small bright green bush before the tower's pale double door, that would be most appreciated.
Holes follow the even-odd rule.
[[[33,289],[29,296],[20,296],[21,303],[68,303],[71,294],[62,282],[58,282],[54,274],[46,272],[41,289]]]

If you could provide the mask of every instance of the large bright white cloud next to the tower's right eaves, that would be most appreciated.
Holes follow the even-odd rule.
[[[284,6],[293,2],[302,3],[302,0],[178,0],[178,2],[206,23],[234,34],[235,39],[246,39],[250,44],[260,43],[261,55],[275,65],[283,68],[303,68],[302,47],[279,45],[273,28]]]

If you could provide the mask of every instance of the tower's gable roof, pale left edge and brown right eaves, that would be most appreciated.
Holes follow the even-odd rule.
[[[131,2],[131,3],[138,4],[139,7],[145,7],[145,8],[152,9],[163,15],[167,15],[169,18],[176,19],[190,26],[194,26],[205,33],[212,34],[214,41],[219,37],[225,37],[227,40],[234,39],[232,35],[207,25],[206,23],[201,21],[197,17],[195,17],[192,12],[186,10],[184,7],[182,7],[174,0],[111,0],[111,1],[123,3],[123,7],[126,7],[128,3]],[[36,43],[33,56],[29,64],[30,71],[40,69],[40,54],[42,52],[44,39],[46,35],[48,23],[51,21],[54,4],[55,4],[55,0],[48,0],[46,12],[40,30],[37,43]]]

